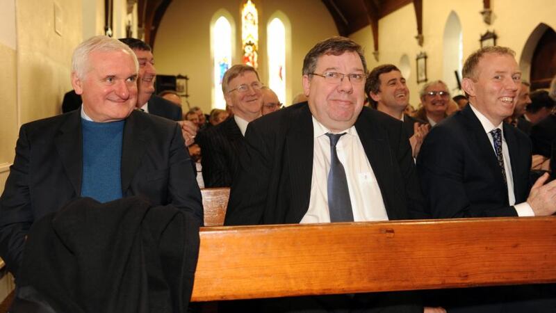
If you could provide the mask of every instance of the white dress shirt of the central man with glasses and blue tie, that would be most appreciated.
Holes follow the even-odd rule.
[[[345,169],[347,188],[350,190],[354,221],[388,220],[382,193],[378,186],[373,168],[363,150],[355,127],[338,134],[341,136],[336,145],[338,159]],[[332,133],[313,117],[313,175],[311,177],[311,196],[309,209],[300,223],[329,223],[328,211],[328,172],[330,170],[330,139]],[[374,147],[373,149],[383,149]]]

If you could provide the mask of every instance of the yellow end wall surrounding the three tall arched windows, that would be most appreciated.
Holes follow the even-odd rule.
[[[189,102],[204,111],[211,110],[212,59],[210,22],[221,8],[234,17],[236,51],[234,63],[240,62],[240,0],[205,1],[202,6],[191,1],[172,1],[156,34],[154,57],[158,74],[188,75]],[[259,9],[259,74],[268,82],[266,66],[266,30],[263,26],[277,10],[291,23],[291,64],[286,65],[286,81],[291,93],[286,101],[302,92],[301,70],[306,52],[319,40],[337,35],[331,15],[321,1],[260,0]],[[287,62],[287,61],[286,61]]]

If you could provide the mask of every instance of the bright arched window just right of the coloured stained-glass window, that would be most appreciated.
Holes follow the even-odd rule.
[[[267,27],[268,43],[268,87],[278,96],[281,103],[286,102],[286,28],[275,17]]]

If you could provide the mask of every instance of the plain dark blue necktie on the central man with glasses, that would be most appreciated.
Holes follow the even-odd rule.
[[[328,173],[328,211],[331,222],[352,222],[353,211],[350,200],[350,190],[347,188],[347,179],[342,163],[338,159],[336,144],[342,134],[329,134],[330,138],[330,172]]]

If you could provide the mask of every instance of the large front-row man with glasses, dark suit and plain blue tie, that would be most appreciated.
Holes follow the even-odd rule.
[[[363,108],[366,70],[361,47],[348,38],[329,38],[309,51],[308,102],[247,128],[225,225],[396,220],[418,211],[407,135],[402,122]],[[409,299],[392,293],[286,298],[263,301],[259,312],[423,312]]]

